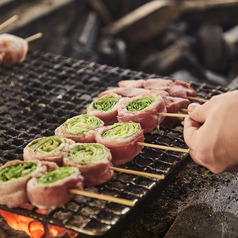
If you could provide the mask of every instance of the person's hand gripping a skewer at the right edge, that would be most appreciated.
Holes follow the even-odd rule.
[[[192,159],[213,173],[238,171],[238,91],[190,104],[184,140]]]

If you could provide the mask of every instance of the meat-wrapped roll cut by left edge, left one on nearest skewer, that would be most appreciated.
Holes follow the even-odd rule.
[[[0,204],[13,208],[27,203],[27,182],[32,177],[40,176],[56,167],[55,163],[41,161],[13,160],[7,162],[0,168]]]

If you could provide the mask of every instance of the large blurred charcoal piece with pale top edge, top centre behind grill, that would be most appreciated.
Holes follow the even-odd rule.
[[[178,19],[180,8],[167,1],[151,1],[106,26],[102,32],[111,36],[120,35],[135,45],[152,39],[161,33],[169,22]]]

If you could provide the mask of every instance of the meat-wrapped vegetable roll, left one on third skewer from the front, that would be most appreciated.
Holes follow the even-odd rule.
[[[93,143],[94,131],[104,122],[94,115],[81,114],[68,119],[55,129],[55,135],[80,143]]]

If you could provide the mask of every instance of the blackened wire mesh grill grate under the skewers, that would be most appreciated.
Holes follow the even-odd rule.
[[[68,118],[86,112],[86,107],[100,92],[126,79],[148,79],[145,74],[107,65],[66,58],[51,53],[30,52],[24,63],[0,68],[0,163],[23,160],[23,149],[33,139],[50,136]],[[227,89],[191,82],[197,96],[209,99]],[[145,142],[186,148],[183,126],[154,130]],[[121,167],[165,175],[164,180],[115,172],[113,178],[88,191],[129,200],[134,207],[80,195],[49,214],[37,208],[1,209],[27,215],[39,221],[76,231],[80,237],[119,234],[146,204],[155,199],[187,163],[189,156],[180,152],[145,147],[131,162]]]

